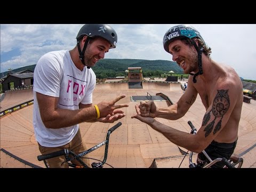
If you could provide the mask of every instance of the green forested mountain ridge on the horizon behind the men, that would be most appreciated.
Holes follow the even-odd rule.
[[[29,69],[34,71],[36,65],[12,69],[12,73]],[[183,70],[176,62],[166,60],[141,60],[141,59],[102,59],[92,68],[97,78],[125,76],[129,67],[141,67],[143,76],[159,76],[174,71],[175,74],[182,74]],[[10,71],[1,73],[1,78]]]

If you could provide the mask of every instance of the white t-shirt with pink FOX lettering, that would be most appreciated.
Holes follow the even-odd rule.
[[[76,135],[78,124],[60,129],[44,126],[38,108],[36,92],[59,98],[58,108],[76,110],[79,103],[91,104],[96,84],[93,70],[76,68],[69,51],[53,51],[44,54],[34,70],[33,124],[36,140],[45,147],[66,145]]]

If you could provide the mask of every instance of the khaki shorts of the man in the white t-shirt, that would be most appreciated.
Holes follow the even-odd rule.
[[[71,150],[75,154],[79,154],[82,151],[87,150],[85,144],[82,141],[81,132],[80,132],[79,129],[78,129],[78,132],[77,132],[76,136],[74,137],[74,139],[72,141],[70,141],[69,143],[67,143],[66,145],[63,145],[63,146],[60,146],[60,147],[43,147],[38,143],[38,147],[39,147],[39,151],[41,152],[42,155],[53,153],[55,151],[59,151],[59,150],[62,150],[62,149]],[[83,156],[83,157],[86,157],[86,155]],[[87,159],[87,158],[81,158],[81,159],[87,166],[91,167],[89,159]],[[46,162],[47,162],[47,164],[49,165],[50,168],[68,168],[68,163],[63,163],[61,165],[61,163],[64,162],[64,161],[66,161],[66,158],[65,158],[64,155],[59,156],[59,157],[46,159]],[[76,165],[81,165],[81,163],[79,163],[76,160],[74,160],[72,162]]]

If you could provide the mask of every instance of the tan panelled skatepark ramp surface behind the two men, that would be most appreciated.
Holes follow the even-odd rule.
[[[96,85],[93,93],[93,105],[103,100],[113,100],[120,94],[126,94],[126,97],[117,103],[129,104],[129,107],[123,108],[126,116],[118,121],[122,122],[122,125],[110,135],[107,163],[113,167],[145,168],[149,167],[154,159],[158,159],[158,167],[178,167],[181,162],[182,158],[178,157],[181,155],[178,146],[166,139],[161,133],[153,130],[149,125],[140,122],[138,119],[131,118],[135,114],[135,105],[140,103],[139,101],[131,101],[131,96],[145,96],[148,90],[150,90],[151,95],[161,92],[167,95],[174,103],[183,94],[180,83],[143,82],[143,89],[129,89],[128,83],[101,83]],[[27,97],[30,97],[29,93],[27,94]],[[6,96],[4,99],[8,98]],[[16,100],[14,99],[13,101],[16,102],[20,98],[20,94],[15,94],[14,98]],[[166,101],[155,101],[155,103],[157,107],[167,106]],[[191,121],[196,127],[200,127],[204,114],[205,108],[201,98],[198,96],[194,105],[191,106],[187,114],[182,118],[176,121],[157,118],[157,121],[189,133],[190,127],[187,122]],[[239,137],[235,149],[237,154],[244,153],[244,151],[256,143],[255,114],[256,101],[251,100],[251,103],[244,102],[239,123]],[[93,147],[105,140],[108,129],[116,123],[97,122],[79,124],[82,138],[87,148]],[[40,152],[34,136],[33,105],[3,116],[0,118],[0,124],[1,148],[27,162],[44,167],[43,162],[37,161],[37,155],[40,155]],[[6,166],[6,163],[3,162],[9,161],[2,161],[2,158],[7,159],[4,156],[2,156],[1,152],[1,167]],[[103,156],[104,147],[94,150],[89,155],[89,157],[100,160],[103,159]],[[163,160],[160,161],[159,159]],[[170,161],[170,159],[173,161]],[[251,167],[251,164],[254,162],[256,162],[256,156],[252,154],[250,158],[244,159],[245,166],[243,167]],[[24,167],[24,164],[9,163],[8,167]]]

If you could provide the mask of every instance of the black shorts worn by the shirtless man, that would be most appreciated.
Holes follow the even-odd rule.
[[[229,159],[231,155],[234,153],[236,148],[237,140],[233,143],[219,143],[216,141],[212,141],[204,151],[209,157],[214,160],[215,158],[223,158]],[[197,165],[203,167],[204,165],[210,163],[210,161],[205,157],[205,155],[201,152],[197,155]],[[222,168],[225,164],[218,162],[213,164],[212,168]]]

